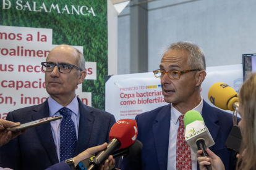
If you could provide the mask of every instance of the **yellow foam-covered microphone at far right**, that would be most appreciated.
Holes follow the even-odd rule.
[[[218,82],[213,84],[208,91],[208,99],[213,105],[223,110],[237,110],[239,106],[237,92],[228,84]]]

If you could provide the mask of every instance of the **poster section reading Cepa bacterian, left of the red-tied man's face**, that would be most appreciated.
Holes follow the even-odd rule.
[[[134,119],[136,115],[168,103],[163,100],[160,79],[152,73],[111,76],[106,82],[106,111],[116,121]]]

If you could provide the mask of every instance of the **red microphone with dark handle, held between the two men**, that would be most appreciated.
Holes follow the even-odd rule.
[[[108,156],[111,155],[117,148],[127,148],[135,142],[137,138],[137,123],[134,119],[121,119],[117,121],[109,132],[108,146],[101,151],[95,159],[90,163],[88,170],[98,169],[103,164]]]

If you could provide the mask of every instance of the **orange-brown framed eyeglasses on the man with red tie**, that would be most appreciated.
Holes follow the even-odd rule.
[[[200,71],[199,69],[193,69],[193,70],[184,70],[184,71],[161,71],[161,70],[155,70],[153,73],[155,74],[156,78],[163,78],[165,74],[168,75],[170,79],[179,79],[181,78],[181,75],[185,73],[189,73],[190,71]]]

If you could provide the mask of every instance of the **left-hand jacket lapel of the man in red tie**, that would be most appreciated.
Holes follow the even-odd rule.
[[[171,105],[169,104],[158,113],[156,123],[153,124],[156,155],[160,169],[167,169],[170,119]]]

